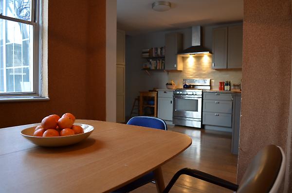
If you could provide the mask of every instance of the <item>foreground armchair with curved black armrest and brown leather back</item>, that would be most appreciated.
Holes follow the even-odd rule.
[[[190,175],[237,193],[277,193],[284,177],[286,156],[281,147],[268,145],[248,165],[239,185],[214,175],[183,168],[170,180],[163,193],[168,193],[180,175]]]

